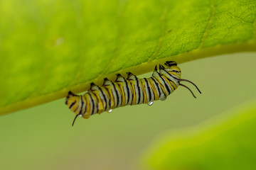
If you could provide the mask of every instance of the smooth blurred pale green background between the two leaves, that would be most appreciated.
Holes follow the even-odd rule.
[[[1,116],[1,169],[144,169],[145,149],[164,132],[255,98],[255,63],[256,53],[240,53],[179,64],[182,77],[203,92],[188,84],[198,98],[178,87],[164,102],[78,118],[74,127],[64,98]]]

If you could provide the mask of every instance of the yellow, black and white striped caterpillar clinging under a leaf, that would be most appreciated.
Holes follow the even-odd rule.
[[[121,74],[117,74],[117,79],[114,82],[105,78],[101,87],[92,83],[90,89],[83,95],[75,95],[69,91],[65,104],[76,114],[75,119],[78,118],[78,115],[90,118],[90,115],[95,113],[111,112],[113,108],[121,106],[142,103],[151,105],[153,101],[164,101],[166,96],[169,96],[178,86],[183,86],[191,91],[187,86],[181,84],[181,81],[188,81],[191,84],[193,82],[181,79],[181,69],[177,63],[169,61],[164,64],[166,67],[159,64],[159,72],[155,67],[149,78],[139,79],[128,72],[127,79],[124,79]],[[197,86],[196,89],[198,89]],[[198,91],[201,94],[199,89]],[[196,98],[192,91],[191,94]],[[72,125],[74,125],[75,119]]]

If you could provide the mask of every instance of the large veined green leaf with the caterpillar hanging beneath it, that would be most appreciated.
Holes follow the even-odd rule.
[[[151,72],[256,50],[255,0],[0,1],[0,113]]]

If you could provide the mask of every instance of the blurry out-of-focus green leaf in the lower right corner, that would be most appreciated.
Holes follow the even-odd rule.
[[[255,169],[255,131],[256,101],[252,101],[215,123],[161,137],[146,164],[153,169]]]

